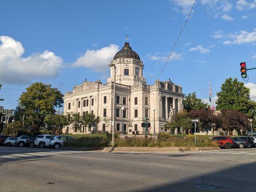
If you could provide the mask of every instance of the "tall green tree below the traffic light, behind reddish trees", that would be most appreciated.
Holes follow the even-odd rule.
[[[243,112],[249,118],[255,116],[256,102],[250,99],[250,89],[230,77],[221,85],[221,91],[217,93],[217,110],[232,109]]]

